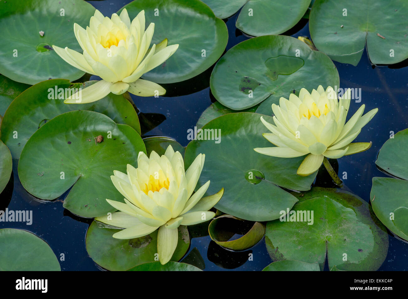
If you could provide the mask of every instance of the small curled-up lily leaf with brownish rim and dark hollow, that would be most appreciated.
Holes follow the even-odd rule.
[[[249,230],[248,230],[248,224]],[[248,223],[231,215],[222,215],[211,221],[208,233],[218,245],[232,249],[245,250],[257,244],[265,235],[265,226],[260,222]],[[242,235],[230,240],[235,234]]]

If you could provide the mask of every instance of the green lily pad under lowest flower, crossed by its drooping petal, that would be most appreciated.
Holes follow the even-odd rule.
[[[157,230],[150,235],[130,239],[115,239],[117,229],[104,228],[93,221],[86,233],[86,250],[99,266],[111,271],[125,271],[140,264],[157,260]],[[190,246],[186,226],[179,226],[179,239],[171,261],[180,260]],[[156,258],[156,259],[155,259]],[[160,263],[160,262],[159,262]]]

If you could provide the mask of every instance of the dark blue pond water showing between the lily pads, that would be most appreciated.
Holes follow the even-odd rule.
[[[105,16],[110,16],[130,1],[88,2]],[[226,50],[248,39],[235,28],[237,15],[238,13],[226,20],[229,31]],[[296,38],[299,35],[309,36],[308,23],[301,20],[295,29],[286,35]],[[364,153],[338,160],[339,173],[346,171],[348,175],[348,179],[344,180],[344,189],[366,201],[370,195],[372,177],[387,176],[375,165],[379,149],[390,137],[390,131],[397,133],[408,127],[408,67],[404,67],[407,64],[405,61],[393,66],[372,66],[366,52],[356,67],[335,62],[340,75],[339,87],[361,88],[361,103],[352,104],[348,114],[353,115],[361,104],[366,105],[365,111],[379,108],[377,115],[363,128],[358,137],[359,141],[372,141],[373,146]],[[201,113],[215,101],[208,87],[211,70],[212,68],[187,82],[163,84],[167,95],[171,96],[142,98],[132,95],[135,105],[142,113],[141,122],[144,119],[146,122],[160,123],[150,130],[145,126],[144,136],[169,136],[186,146],[187,129],[193,128]],[[9,203],[8,208],[11,210],[32,210],[34,221],[31,226],[2,222],[0,227],[26,229],[43,238],[57,256],[64,253],[65,261],[60,261],[62,270],[100,270],[85,248],[86,230],[92,219],[76,217],[65,210],[62,207],[65,194],[53,202],[39,202],[31,197],[18,179],[17,161],[13,162],[13,178],[0,197],[2,202],[6,200],[6,206]],[[4,210],[3,205],[0,210]],[[389,235],[389,241],[388,255],[379,270],[408,270],[408,244],[392,235]],[[250,252],[253,253],[253,261],[248,261]],[[197,257],[201,255],[205,264],[204,270],[262,270],[272,262],[264,240],[244,252],[231,252],[217,246],[209,236],[194,237],[186,256],[189,253],[191,255],[185,257],[189,263],[192,260],[201,260]]]

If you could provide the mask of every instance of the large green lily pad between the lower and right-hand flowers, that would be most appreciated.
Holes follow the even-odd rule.
[[[221,136],[220,142],[192,140],[184,156],[187,167],[199,153],[205,154],[204,168],[197,188],[208,180],[211,180],[208,194],[224,188],[224,195],[215,208],[250,221],[279,218],[279,212],[291,208],[297,199],[278,186],[309,190],[316,177],[316,173],[307,177],[296,174],[302,157],[276,158],[253,150],[255,147],[271,146],[262,136],[265,128],[260,121],[261,116],[257,113],[240,112],[217,117],[202,129],[213,129],[214,133],[221,130],[218,135]],[[264,118],[273,122],[272,117],[264,115]],[[211,131],[203,132],[208,135]],[[257,171],[265,178],[259,184],[252,180],[256,178]]]

